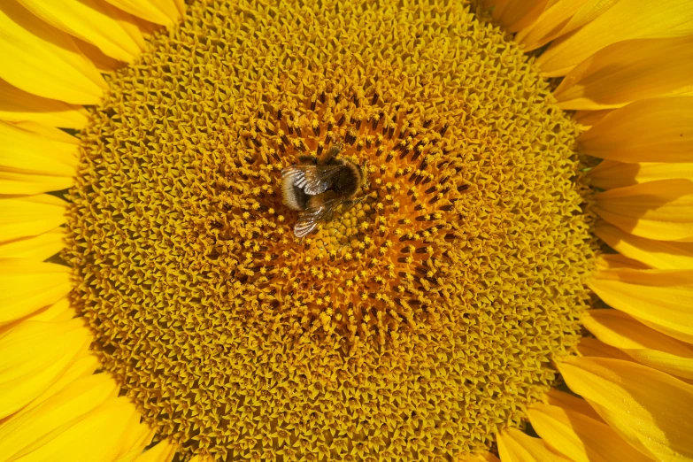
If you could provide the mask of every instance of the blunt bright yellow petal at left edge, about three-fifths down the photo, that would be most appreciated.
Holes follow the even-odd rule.
[[[25,258],[0,259],[0,326],[56,303],[70,289],[66,266]]]

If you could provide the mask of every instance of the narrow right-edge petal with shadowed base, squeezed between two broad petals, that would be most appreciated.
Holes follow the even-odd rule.
[[[693,103],[693,101],[692,101]],[[591,185],[601,189],[624,188],[648,181],[685,179],[693,181],[693,163],[604,160],[589,171]]]

